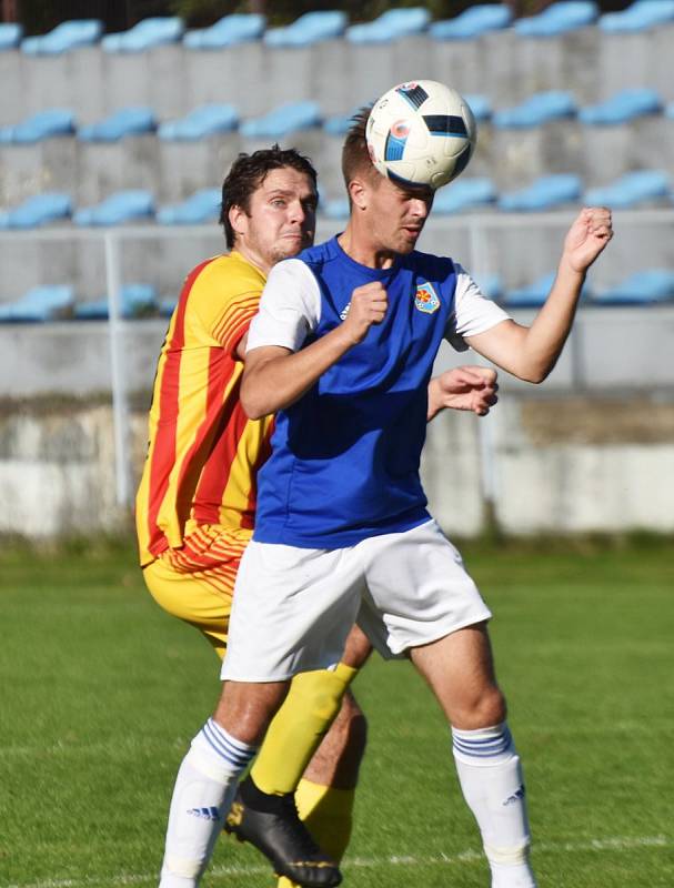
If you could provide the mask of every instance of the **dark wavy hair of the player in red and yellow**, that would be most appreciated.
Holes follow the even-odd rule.
[[[250,199],[271,170],[291,167],[311,179],[314,191],[318,193],[318,176],[309,158],[300,154],[294,148],[271,148],[253,151],[252,154],[239,154],[222,184],[222,205],[220,208],[220,224],[224,229],[227,245],[231,250],[234,245],[234,232],[230,224],[230,210],[240,206],[245,213],[250,209]]]

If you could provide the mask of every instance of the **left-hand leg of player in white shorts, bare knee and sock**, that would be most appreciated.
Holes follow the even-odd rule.
[[[194,888],[239,779],[283,700],[286,682],[225,682],[213,718],[192,740],[173,789],[160,888]]]

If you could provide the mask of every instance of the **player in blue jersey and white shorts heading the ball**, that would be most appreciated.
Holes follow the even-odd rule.
[[[220,749],[202,756],[199,780],[179,775],[169,831],[191,860],[208,859],[218,826],[203,817],[198,831],[181,804],[227,809],[290,677],[336,664],[358,619],[384,656],[410,657],[437,697],[492,888],[532,888],[524,785],[494,676],[491,614],[429,515],[419,480],[426,386],[442,339],[543,381],[585,273],[612,236],[611,215],[583,210],[546,304],[522,326],[457,263],[414,250],[433,195],[374,170],[365,121],[363,113],[344,144],[345,231],[274,266],[249,333],[242,403],[253,417],[279,412],[273,452],[237,581],[214,714]],[[272,833],[284,816],[292,845],[290,808],[281,811],[250,781],[244,803]]]

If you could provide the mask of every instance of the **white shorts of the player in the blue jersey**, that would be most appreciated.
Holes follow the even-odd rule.
[[[384,657],[491,612],[434,521],[339,549],[249,543],[221,677],[279,682],[339,663],[358,622]]]

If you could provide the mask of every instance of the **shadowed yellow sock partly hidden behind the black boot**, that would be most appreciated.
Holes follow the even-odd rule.
[[[339,864],[351,838],[355,789],[334,789],[300,780],[295,803],[300,817],[321,848]],[[282,876],[278,888],[298,888]]]

